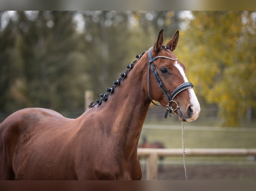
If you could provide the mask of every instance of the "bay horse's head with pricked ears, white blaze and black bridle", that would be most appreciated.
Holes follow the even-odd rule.
[[[185,66],[173,54],[178,39],[177,31],[163,46],[163,30],[159,32],[154,46],[148,50],[148,54],[143,55],[149,59],[143,86],[152,102],[156,100],[170,113],[178,114],[180,121],[194,121],[199,116],[200,104],[194,86],[185,76]]]

